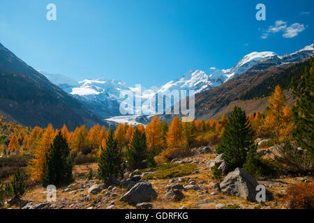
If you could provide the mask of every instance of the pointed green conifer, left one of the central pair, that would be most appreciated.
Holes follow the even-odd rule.
[[[124,160],[121,147],[114,137],[114,132],[109,128],[106,139],[106,148],[101,146],[101,155],[98,161],[98,177],[107,180],[110,176],[122,176],[124,171]]]

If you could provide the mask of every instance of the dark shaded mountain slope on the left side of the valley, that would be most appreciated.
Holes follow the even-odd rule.
[[[0,44],[0,113],[34,127],[105,124],[79,101],[52,84]]]

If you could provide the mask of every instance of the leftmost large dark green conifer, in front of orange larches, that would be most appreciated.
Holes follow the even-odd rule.
[[[68,141],[59,131],[46,154],[43,187],[47,185],[60,187],[72,183],[72,169],[73,157],[70,155]]]

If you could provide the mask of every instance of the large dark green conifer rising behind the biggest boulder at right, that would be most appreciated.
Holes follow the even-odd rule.
[[[223,159],[228,168],[233,170],[242,167],[246,162],[248,148],[254,146],[251,124],[246,113],[239,107],[234,107],[228,118],[223,138],[216,149],[218,154],[223,153]]]

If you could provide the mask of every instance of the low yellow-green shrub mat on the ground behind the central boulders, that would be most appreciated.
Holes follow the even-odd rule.
[[[196,170],[196,164],[174,164],[173,167],[167,169],[159,169],[158,171],[144,176],[144,179],[151,180],[154,178],[165,179],[192,174]]]

